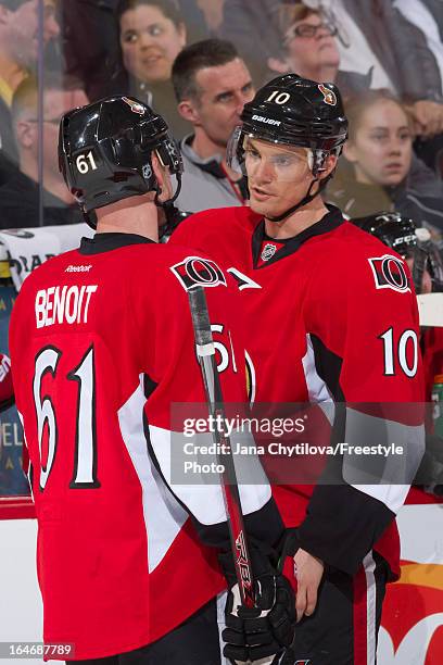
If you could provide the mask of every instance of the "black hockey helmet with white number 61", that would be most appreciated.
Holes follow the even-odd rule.
[[[155,151],[177,176],[182,161],[163,117],[130,97],[109,97],[62,116],[59,164],[64,180],[94,227],[89,213],[128,197],[160,193],[152,168]],[[162,204],[163,205],[163,204]]]

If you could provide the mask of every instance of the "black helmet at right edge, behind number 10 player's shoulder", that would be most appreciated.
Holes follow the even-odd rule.
[[[413,279],[416,292],[421,291],[421,277],[425,268],[432,280],[432,291],[443,291],[443,264],[430,231],[417,227],[409,217],[398,212],[381,212],[366,217],[357,217],[352,223],[376,236],[404,259],[414,259]]]

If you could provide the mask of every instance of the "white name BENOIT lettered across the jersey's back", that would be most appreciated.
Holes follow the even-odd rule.
[[[35,311],[37,328],[52,326],[55,323],[88,323],[88,311],[91,296],[98,285],[56,286],[37,291]]]

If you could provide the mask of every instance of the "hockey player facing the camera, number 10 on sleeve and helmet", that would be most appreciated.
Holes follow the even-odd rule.
[[[355,460],[344,453],[331,460],[340,463],[334,484],[309,487],[299,476],[273,488],[295,528],[293,661],[313,665],[375,664],[384,587],[398,575],[395,514],[423,449],[408,268],[320,197],[346,135],[336,86],[295,74],[271,80],[245,104],[229,150],[231,167],[248,177],[251,208],[198,213],[172,237],[238,280],[256,403],[326,411],[333,401],[336,441],[405,444],[404,457],[391,461],[405,472],[397,477],[372,475],[368,456],[360,475],[349,473]],[[296,459],[282,464],[292,462],[296,468]]]

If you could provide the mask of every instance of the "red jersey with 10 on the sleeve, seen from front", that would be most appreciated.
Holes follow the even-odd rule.
[[[366,474],[368,455],[349,473],[356,453],[351,460],[342,452],[341,482],[337,475],[303,480],[303,455],[283,460],[293,481],[287,476],[276,486],[273,478],[283,519],[300,526],[305,550],[354,574],[374,548],[396,576],[394,516],[425,446],[417,303],[403,260],[328,208],[318,223],[279,241],[248,208],[205,211],[186,219],[172,242],[204,251],[237,279],[255,403],[311,402],[325,413],[332,406],[334,442],[403,442],[403,455],[379,476]],[[319,430],[309,432],[317,443]]]

